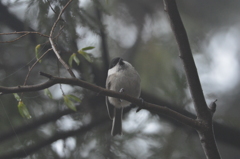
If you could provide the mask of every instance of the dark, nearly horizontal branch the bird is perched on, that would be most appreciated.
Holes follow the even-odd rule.
[[[131,97],[127,94],[107,90],[105,88],[87,83],[80,79],[60,78],[60,77],[55,77],[55,76],[52,76],[52,75],[49,75],[49,74],[46,74],[43,72],[40,72],[40,75],[49,78],[49,80],[47,82],[44,82],[44,83],[38,84],[38,85],[17,86],[17,87],[0,87],[0,94],[9,94],[9,93],[18,93],[18,92],[33,92],[33,91],[39,91],[39,90],[43,90],[45,88],[49,88],[49,87],[51,87],[55,84],[59,84],[59,83],[70,84],[70,85],[80,86],[80,87],[89,89],[100,95],[111,96],[111,97],[116,97],[116,98],[127,100],[135,105],[140,106],[142,109],[147,109],[147,110],[153,111],[153,112],[156,112],[156,111],[160,112],[160,114],[167,115],[183,124],[186,124],[188,126],[195,128],[195,129],[202,129],[202,126],[204,126],[197,120],[186,117],[186,116],[184,116],[178,112],[175,112],[167,107],[159,106],[159,105],[152,104],[152,103],[142,102],[141,99]]]

